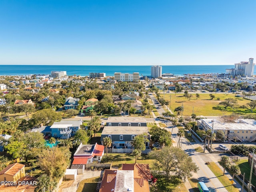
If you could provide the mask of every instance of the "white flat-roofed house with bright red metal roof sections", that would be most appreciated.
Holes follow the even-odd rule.
[[[99,145],[97,143],[95,145],[83,145],[81,143],[78,146],[76,152],[74,153],[74,160],[72,162],[72,166],[90,164],[93,161],[100,162],[103,155],[104,155],[103,145]]]

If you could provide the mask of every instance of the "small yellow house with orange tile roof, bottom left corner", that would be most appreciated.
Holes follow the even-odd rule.
[[[25,176],[25,165],[20,163],[13,163],[8,165],[0,171],[0,181],[13,181]]]

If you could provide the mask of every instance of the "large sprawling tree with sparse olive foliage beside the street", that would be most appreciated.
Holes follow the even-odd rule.
[[[166,172],[166,178],[176,176],[182,180],[191,177],[196,173],[198,167],[183,150],[176,147],[164,147],[162,150],[149,152],[149,157],[153,159],[153,166],[156,170]]]

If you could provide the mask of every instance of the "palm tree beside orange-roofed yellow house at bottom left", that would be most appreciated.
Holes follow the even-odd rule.
[[[52,181],[47,174],[42,174],[37,180],[35,192],[52,192],[57,186],[57,183]]]

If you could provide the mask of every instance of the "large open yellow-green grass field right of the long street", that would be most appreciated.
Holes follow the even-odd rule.
[[[198,92],[200,97],[196,99],[196,94],[192,94],[193,97],[191,100],[185,98],[184,94],[171,94],[171,110],[174,112],[174,109],[178,106],[184,107],[184,116],[190,116],[193,113],[203,116],[223,116],[223,115],[230,115],[233,112],[232,108],[227,108],[224,110],[222,106],[218,106],[218,104],[222,101],[224,101],[226,98],[236,98],[238,100],[239,106],[246,105],[250,102],[250,100],[246,100],[242,97],[235,97],[235,94],[212,94],[215,96],[213,100],[210,100],[209,94],[200,94]],[[163,94],[161,94],[163,97]],[[217,98],[220,98],[220,100],[217,100]],[[166,100],[170,101],[170,97],[166,97]],[[246,109],[234,109],[234,112],[239,112],[240,114],[246,114],[250,112],[250,110]]]

